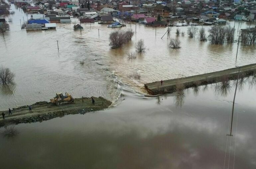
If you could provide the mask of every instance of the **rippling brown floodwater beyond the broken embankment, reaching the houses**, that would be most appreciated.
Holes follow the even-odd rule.
[[[216,46],[185,35],[179,37],[182,48],[170,49],[167,35],[161,39],[167,28],[157,28],[155,35],[155,28],[135,26],[134,23],[126,23],[127,27],[121,28],[135,31],[136,27],[132,41],[121,49],[109,46],[109,34],[114,29],[98,23],[82,24],[84,29],[80,35],[79,30],[73,30],[73,24],[78,23],[75,18],[72,24],[57,24],[56,30],[26,32],[20,29],[20,20],[23,22],[24,17],[26,21],[30,15],[26,16],[14,5],[10,11],[15,14],[10,16],[13,20],[9,23],[10,31],[5,33],[5,38],[0,36],[0,64],[10,68],[16,77],[15,85],[1,86],[0,110],[48,101],[56,92],[69,92],[74,97],[103,96],[115,101],[120,94],[118,81],[132,90],[146,93],[145,83],[256,62],[254,46],[239,46],[236,63],[237,43]],[[232,26],[234,22],[228,24]],[[241,25],[242,28],[249,26],[245,22]],[[236,29],[237,26],[238,22]],[[187,32],[187,27],[179,28]],[[176,27],[173,27],[171,38],[176,37],[175,31]],[[135,52],[135,43],[139,39],[144,39],[146,52],[128,60],[127,53]],[[85,64],[80,65],[80,61]],[[140,80],[128,78],[135,70],[140,73]]]

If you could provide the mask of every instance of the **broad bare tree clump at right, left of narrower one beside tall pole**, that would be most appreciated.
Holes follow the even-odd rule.
[[[209,29],[209,40],[212,44],[223,44],[225,40],[225,28],[221,26],[213,26]]]

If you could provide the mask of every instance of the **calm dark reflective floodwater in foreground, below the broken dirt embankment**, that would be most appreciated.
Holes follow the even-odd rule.
[[[1,167],[253,169],[255,85],[239,85],[229,137],[229,84],[225,96],[215,84],[187,89],[182,106],[175,95],[145,97],[119,85],[123,101],[114,108],[19,124],[14,137],[0,135]]]

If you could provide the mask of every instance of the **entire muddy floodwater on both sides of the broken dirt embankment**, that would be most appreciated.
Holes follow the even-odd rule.
[[[11,30],[0,37],[0,61],[15,72],[16,85],[1,88],[0,109],[49,100],[59,91],[74,97],[121,95],[120,104],[108,110],[16,125],[14,137],[0,135],[0,168],[256,168],[255,85],[238,89],[232,139],[226,134],[234,85],[225,96],[214,85],[188,89],[180,98],[134,92],[143,93],[144,83],[255,63],[254,47],[239,46],[235,63],[236,43],[216,46],[185,35],[182,48],[173,50],[166,37],[161,39],[167,28],[157,28],[155,37],[154,28],[137,25],[131,43],[110,49],[112,29],[106,25],[94,23],[90,29],[83,24],[82,36],[73,24],[26,32],[19,26],[22,11],[15,11]],[[141,38],[148,50],[127,60],[126,53],[135,51]],[[80,60],[85,60],[83,66]],[[127,78],[134,69],[141,80]]]

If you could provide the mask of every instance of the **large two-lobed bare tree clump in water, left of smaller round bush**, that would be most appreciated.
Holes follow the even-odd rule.
[[[123,44],[129,42],[132,39],[134,32],[132,30],[127,31],[114,31],[110,33],[109,40],[112,48],[120,48]]]

